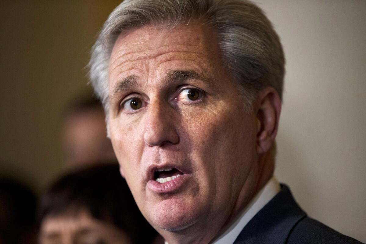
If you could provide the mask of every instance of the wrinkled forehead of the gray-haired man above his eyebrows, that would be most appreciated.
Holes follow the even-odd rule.
[[[112,50],[109,76],[139,75],[152,67],[158,74],[171,66],[205,72],[219,60],[218,54],[216,33],[205,25],[193,23],[172,30],[143,26],[119,35]]]

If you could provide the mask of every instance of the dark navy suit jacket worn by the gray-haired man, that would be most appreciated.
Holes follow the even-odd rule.
[[[290,189],[281,191],[244,227],[234,244],[361,243],[306,216]]]

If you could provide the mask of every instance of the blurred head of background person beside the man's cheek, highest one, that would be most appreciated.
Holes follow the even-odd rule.
[[[64,112],[62,141],[66,165],[79,167],[95,162],[116,162],[100,101],[91,95],[80,97]]]

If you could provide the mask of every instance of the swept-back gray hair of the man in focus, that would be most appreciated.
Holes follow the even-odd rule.
[[[223,67],[239,85],[246,108],[251,108],[255,95],[266,86],[272,86],[282,98],[282,46],[270,21],[250,1],[125,0],[104,23],[89,62],[91,84],[107,115],[108,65],[118,35],[145,25],[173,29],[191,20],[216,30]]]

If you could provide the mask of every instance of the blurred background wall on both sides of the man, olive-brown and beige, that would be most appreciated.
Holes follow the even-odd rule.
[[[366,242],[366,1],[255,1],[287,59],[276,176],[300,206]],[[0,177],[36,194],[65,170],[65,109],[117,0],[0,1]]]

